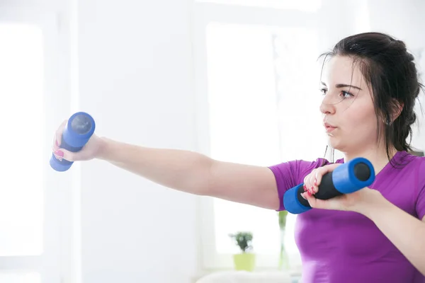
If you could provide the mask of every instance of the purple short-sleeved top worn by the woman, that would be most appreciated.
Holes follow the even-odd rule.
[[[425,216],[425,158],[399,151],[369,187],[418,219]],[[339,159],[336,163],[344,163]],[[302,183],[326,159],[289,161],[269,168],[279,199]],[[284,210],[280,201],[280,209]],[[302,259],[302,283],[425,283],[425,277],[399,252],[373,221],[356,212],[311,209],[299,214],[295,243]]]

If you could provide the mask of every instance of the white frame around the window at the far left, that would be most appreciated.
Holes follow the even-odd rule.
[[[61,26],[64,18],[57,11],[42,6],[0,4],[0,23],[28,23],[41,28],[44,39],[44,110],[45,127],[42,148],[45,161],[43,253],[40,256],[0,256],[0,272],[39,272],[42,283],[67,282],[72,277],[69,270],[69,250],[64,243],[72,242],[69,195],[75,185],[72,173],[57,173],[50,168],[49,158],[54,130],[70,112],[69,42],[68,33]],[[36,149],[37,150],[37,149]],[[65,275],[67,277],[65,277]],[[70,281],[69,281],[70,282]],[[74,281],[75,282],[75,281]]]

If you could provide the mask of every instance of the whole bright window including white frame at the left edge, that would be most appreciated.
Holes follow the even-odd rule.
[[[0,38],[0,282],[59,283],[69,178],[50,168],[50,122],[61,121],[55,111],[69,103],[57,88],[57,19],[2,7]]]

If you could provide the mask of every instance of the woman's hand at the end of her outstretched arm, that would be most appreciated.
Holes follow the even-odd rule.
[[[72,152],[60,147],[62,143],[62,132],[64,131],[64,127],[67,125],[67,122],[68,120],[64,120],[64,122],[62,122],[60,127],[56,130],[53,138],[52,151],[56,158],[60,161],[62,161],[62,159],[67,161],[87,161],[98,157],[101,153],[101,149],[103,148],[104,141],[96,134],[91,136],[81,151]]]

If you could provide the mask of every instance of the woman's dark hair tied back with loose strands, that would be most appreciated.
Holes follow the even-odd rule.
[[[404,42],[384,33],[359,33],[339,41],[331,52],[320,57],[324,55],[348,56],[354,64],[358,63],[372,92],[378,117],[378,141],[382,138],[380,121],[385,121],[383,136],[388,159],[391,160],[390,146],[395,146],[397,151],[412,151],[412,125],[416,122],[414,102],[421,89],[424,91],[424,85],[419,82],[414,56]],[[399,105],[402,111],[393,119]]]

